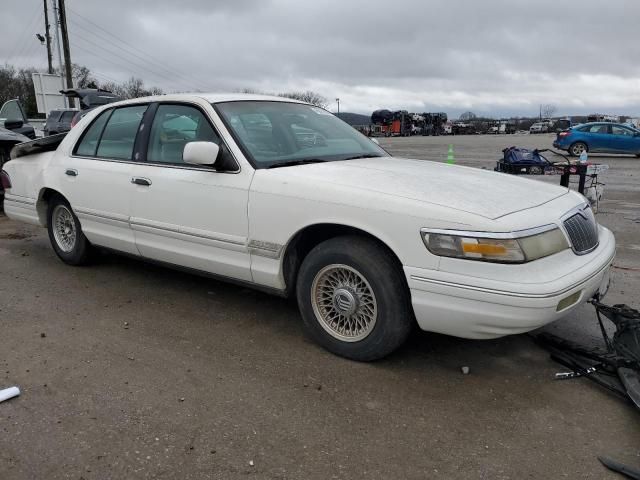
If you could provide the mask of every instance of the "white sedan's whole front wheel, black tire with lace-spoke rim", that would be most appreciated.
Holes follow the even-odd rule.
[[[317,245],[300,267],[298,306],[309,335],[336,355],[378,360],[414,324],[402,269],[383,246],[359,236]]]

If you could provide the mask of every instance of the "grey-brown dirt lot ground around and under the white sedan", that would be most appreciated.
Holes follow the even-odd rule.
[[[382,139],[397,155],[493,168],[548,135]],[[640,306],[640,160],[611,171],[610,303]],[[554,178],[538,178],[557,181]],[[490,185],[487,185],[490,188]],[[615,479],[640,467],[640,415],[527,335],[416,331],[390,358],[311,343],[289,301],[103,255],[63,265],[46,232],[0,216],[0,479]],[[586,306],[551,329],[597,334]],[[471,369],[462,375],[460,367]]]

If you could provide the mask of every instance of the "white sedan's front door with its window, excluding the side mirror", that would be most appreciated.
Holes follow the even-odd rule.
[[[241,170],[221,141],[210,105],[160,103],[153,110],[145,161],[133,171],[131,226],[140,254],[250,281],[247,210],[253,171]],[[184,163],[183,149],[191,141],[220,145],[226,166]]]

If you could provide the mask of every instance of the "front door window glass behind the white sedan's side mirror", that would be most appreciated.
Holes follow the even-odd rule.
[[[160,105],[149,134],[147,161],[184,163],[182,152],[189,142],[214,142],[220,137],[204,114],[188,105]]]

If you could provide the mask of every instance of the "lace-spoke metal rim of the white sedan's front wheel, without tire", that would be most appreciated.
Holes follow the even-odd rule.
[[[367,279],[348,265],[332,264],[320,270],[311,284],[316,320],[343,342],[366,338],[378,319],[378,302]]]

